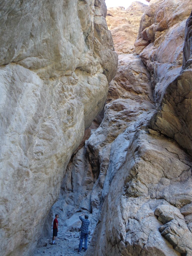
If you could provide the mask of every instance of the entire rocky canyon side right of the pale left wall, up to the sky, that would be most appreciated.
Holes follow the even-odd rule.
[[[108,11],[118,72],[54,206],[65,228],[89,213],[86,256],[192,254],[192,3],[148,2]]]

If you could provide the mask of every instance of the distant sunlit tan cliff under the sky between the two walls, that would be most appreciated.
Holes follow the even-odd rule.
[[[134,52],[140,20],[146,9],[147,5],[138,1],[133,2],[126,10],[124,7],[108,9],[106,21],[118,54]]]

